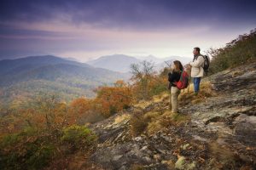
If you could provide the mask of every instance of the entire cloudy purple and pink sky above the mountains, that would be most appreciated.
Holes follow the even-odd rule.
[[[0,59],[192,57],[256,28],[255,0],[1,0]]]

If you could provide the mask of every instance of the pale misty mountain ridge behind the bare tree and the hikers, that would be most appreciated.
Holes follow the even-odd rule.
[[[131,64],[138,64],[143,60],[148,60],[154,63],[155,70],[160,71],[162,68],[166,67],[167,62],[172,62],[174,60],[180,60],[183,65],[188,64],[191,59],[179,56],[171,56],[163,59],[154,57],[153,55],[148,55],[143,58],[136,58],[124,54],[113,54],[108,56],[102,56],[98,59],[92,59],[87,62],[88,65],[92,65],[98,68],[105,68],[111,71],[119,71],[119,72],[129,72],[131,71]]]

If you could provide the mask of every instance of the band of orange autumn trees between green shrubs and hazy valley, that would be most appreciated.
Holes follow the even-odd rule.
[[[97,122],[129,108],[133,101],[131,87],[123,81],[113,87],[103,86],[96,89],[95,99],[73,99],[70,104],[62,102],[55,94],[42,94],[27,101],[15,110],[1,109],[0,132],[17,133],[24,127],[56,129]]]

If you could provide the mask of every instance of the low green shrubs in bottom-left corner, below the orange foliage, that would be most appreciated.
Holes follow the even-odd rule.
[[[1,137],[0,169],[42,169],[67,156],[66,150],[87,152],[84,149],[95,141],[96,135],[87,127],[71,126],[63,131],[25,128],[20,133]]]

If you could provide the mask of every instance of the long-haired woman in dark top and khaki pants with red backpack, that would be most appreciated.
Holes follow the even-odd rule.
[[[180,94],[180,89],[188,86],[189,81],[185,79],[189,78],[189,76],[183,77],[185,74],[186,72],[183,71],[181,62],[178,60],[173,61],[172,72],[168,73],[169,89],[171,90],[170,109],[172,108],[173,113],[177,113],[177,97]],[[187,84],[183,84],[183,82]]]

